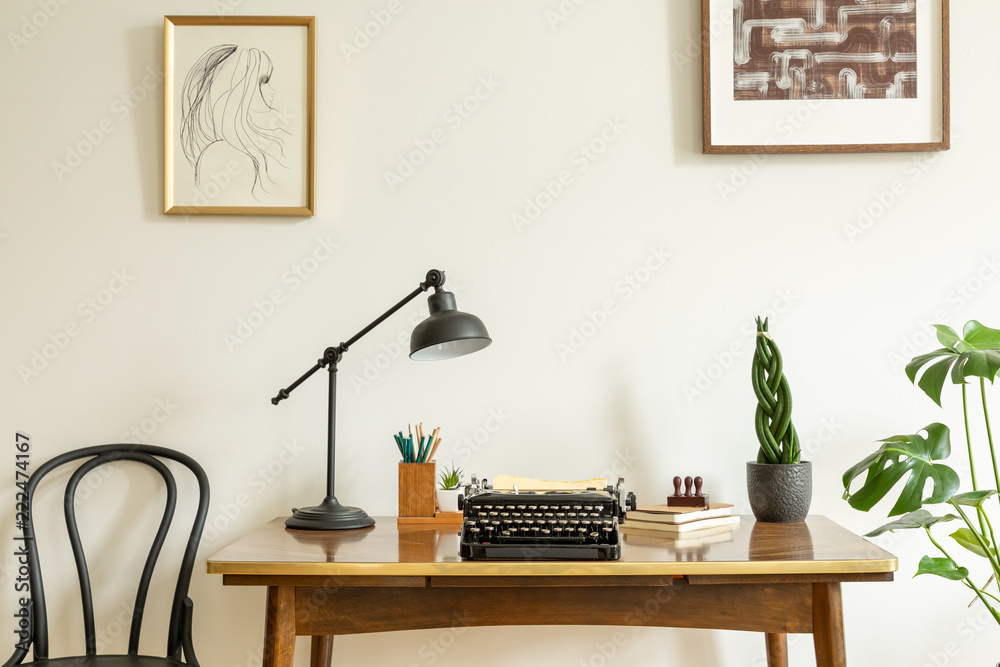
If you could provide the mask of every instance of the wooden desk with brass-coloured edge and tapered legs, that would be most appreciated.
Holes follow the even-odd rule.
[[[312,667],[333,636],[457,625],[627,625],[763,632],[768,664],[787,665],[786,633],[812,633],[820,667],[846,664],[841,582],[891,581],[896,558],[812,516],[742,517],[731,534],[678,547],[624,531],[609,562],[462,561],[458,526],[288,530],[283,519],[208,559],[227,586],[266,586],[264,665],[291,667],[312,635]],[[596,590],[595,590],[596,589]]]

